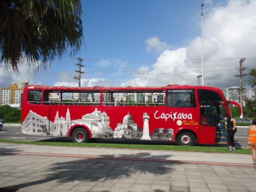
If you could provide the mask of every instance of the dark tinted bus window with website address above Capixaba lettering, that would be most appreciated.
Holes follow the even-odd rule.
[[[167,90],[168,107],[196,107],[195,92],[188,89]]]

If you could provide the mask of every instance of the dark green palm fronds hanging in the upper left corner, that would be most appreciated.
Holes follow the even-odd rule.
[[[23,59],[38,70],[81,47],[80,0],[1,0],[0,13],[0,62],[14,71]]]

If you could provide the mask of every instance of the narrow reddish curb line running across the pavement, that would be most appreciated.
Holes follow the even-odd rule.
[[[54,157],[86,158],[86,159],[95,158],[95,159],[108,159],[108,160],[131,160],[131,161],[165,162],[165,163],[180,163],[180,164],[182,163],[182,164],[204,164],[204,165],[219,165],[219,166],[254,167],[254,165],[252,165],[252,164],[186,161],[186,160],[166,160],[166,159],[153,159],[153,158],[130,158],[130,157],[113,157],[113,156],[90,156],[90,155],[34,153],[34,152],[6,152],[6,151],[0,151],[0,154],[30,155],[30,156],[51,156],[51,157],[54,156]]]

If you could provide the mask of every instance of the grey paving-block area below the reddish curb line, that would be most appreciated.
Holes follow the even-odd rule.
[[[0,154],[0,191],[256,191],[251,167]]]

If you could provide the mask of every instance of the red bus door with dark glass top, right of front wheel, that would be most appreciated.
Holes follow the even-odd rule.
[[[200,102],[200,125],[198,142],[201,144],[214,144],[216,138],[216,125],[210,101]]]

